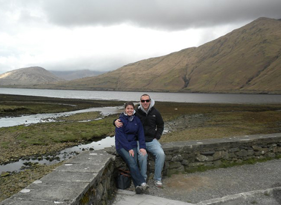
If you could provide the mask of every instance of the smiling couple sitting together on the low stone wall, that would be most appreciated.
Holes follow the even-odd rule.
[[[158,139],[164,130],[164,122],[159,111],[153,106],[154,100],[144,94],[140,97],[138,109],[134,110],[134,104],[129,101],[125,104],[125,111],[120,118],[114,121],[115,148],[129,167],[137,194],[149,188],[146,184],[147,151],[155,156],[155,186],[162,187],[161,171],[165,153]]]

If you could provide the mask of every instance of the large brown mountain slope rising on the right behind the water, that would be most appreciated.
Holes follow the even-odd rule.
[[[188,36],[186,36],[188,37]],[[34,88],[281,93],[281,21],[261,17],[199,47]]]

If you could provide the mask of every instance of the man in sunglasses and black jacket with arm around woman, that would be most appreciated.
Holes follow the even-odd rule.
[[[162,187],[161,172],[165,162],[165,153],[159,143],[159,139],[164,130],[164,121],[160,112],[154,108],[155,101],[149,95],[140,97],[140,106],[136,109],[136,116],[142,121],[147,151],[155,156],[154,183],[156,187]],[[122,122],[115,120],[116,127],[122,127]],[[139,150],[139,149],[138,149]],[[147,154],[138,151],[138,162],[140,173],[147,179]]]

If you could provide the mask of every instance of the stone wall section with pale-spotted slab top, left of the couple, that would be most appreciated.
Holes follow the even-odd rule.
[[[1,205],[107,204],[115,190],[115,156],[84,151]]]

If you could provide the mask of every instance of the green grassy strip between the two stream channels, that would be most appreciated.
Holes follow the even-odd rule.
[[[14,128],[18,132],[16,137],[22,146],[50,145],[60,142],[88,141],[101,138],[114,131],[112,121],[114,117],[107,117],[90,122],[49,122]]]

